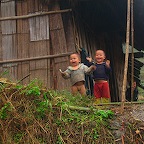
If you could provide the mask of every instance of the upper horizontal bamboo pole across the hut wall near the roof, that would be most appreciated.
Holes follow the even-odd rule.
[[[71,12],[71,11],[72,11],[72,9],[65,9],[65,10],[57,10],[57,11],[39,12],[39,13],[35,13],[35,14],[22,15],[22,16],[2,17],[2,18],[0,18],[0,21],[27,19],[27,18],[36,17],[36,16],[65,13],[65,12]]]

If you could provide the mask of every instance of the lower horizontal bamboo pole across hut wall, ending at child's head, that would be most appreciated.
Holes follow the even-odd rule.
[[[0,61],[0,64],[25,62],[25,61],[33,61],[33,60],[48,59],[48,58],[57,58],[57,57],[64,57],[64,56],[69,56],[72,53],[73,52],[67,52],[67,53],[61,53],[61,54],[55,54],[55,55],[46,55],[46,56],[40,56],[40,57],[31,57],[31,58],[6,60],[6,61]]]

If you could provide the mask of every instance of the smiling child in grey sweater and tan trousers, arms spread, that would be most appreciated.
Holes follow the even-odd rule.
[[[71,80],[71,91],[72,94],[86,95],[85,89],[85,74],[92,71],[93,67],[88,68],[83,63],[80,63],[80,55],[78,53],[73,53],[70,55],[70,66],[66,71],[61,72],[63,78]]]

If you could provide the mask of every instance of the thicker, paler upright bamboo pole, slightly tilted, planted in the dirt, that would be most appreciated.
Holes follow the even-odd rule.
[[[127,84],[129,37],[130,37],[130,0],[127,0],[126,53],[125,53],[125,65],[124,65],[124,78],[123,78],[123,86],[122,86],[121,112],[123,112],[124,110],[125,92],[126,92],[126,84]]]

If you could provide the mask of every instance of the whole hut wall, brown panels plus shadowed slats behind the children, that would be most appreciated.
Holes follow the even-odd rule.
[[[9,11],[4,7],[11,7]],[[73,8],[75,6],[72,6]],[[39,0],[1,1],[1,17],[23,16],[40,12],[60,10],[56,2],[42,4]],[[94,58],[96,49],[104,49],[111,61],[110,88],[112,101],[119,101],[123,79],[122,41],[118,34],[97,34],[71,13],[40,15],[25,19],[0,21],[0,60],[25,59],[79,51],[85,48]],[[75,49],[76,47],[76,49]],[[69,89],[69,80],[64,80],[59,69],[69,65],[68,56],[37,59],[1,64],[2,71],[8,69],[13,80],[25,78],[28,84],[37,78],[48,88]]]

